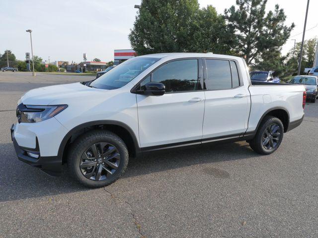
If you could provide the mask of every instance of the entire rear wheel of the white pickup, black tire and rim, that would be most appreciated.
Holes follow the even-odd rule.
[[[266,116],[262,120],[255,137],[249,141],[249,146],[258,154],[269,155],[278,149],[283,140],[283,135],[284,125],[282,121],[276,117]]]

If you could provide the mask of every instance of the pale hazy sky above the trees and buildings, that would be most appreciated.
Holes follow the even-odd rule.
[[[130,49],[128,34],[133,27],[141,0],[0,0],[0,53],[11,50],[18,60],[31,51],[43,60],[110,61],[115,49]],[[212,4],[219,13],[236,0],[199,0],[200,6]],[[275,4],[284,8],[286,24],[296,27],[283,47],[283,54],[302,40],[307,0],[268,0],[267,10]],[[305,39],[318,36],[318,0],[310,0]]]

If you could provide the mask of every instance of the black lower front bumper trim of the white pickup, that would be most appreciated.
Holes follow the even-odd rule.
[[[10,128],[11,139],[13,141],[15,153],[18,159],[24,163],[27,163],[28,165],[41,169],[48,175],[59,176],[62,171],[62,159],[58,156],[41,156],[39,143],[37,139],[35,149],[19,146],[16,139],[14,138],[14,129],[15,124],[12,124]],[[37,154],[39,157],[31,157],[28,155],[28,152],[31,152],[32,154]]]

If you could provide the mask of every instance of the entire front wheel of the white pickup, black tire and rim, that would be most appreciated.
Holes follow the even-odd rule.
[[[68,166],[73,178],[97,188],[116,181],[125,172],[128,159],[127,146],[119,136],[107,130],[92,130],[72,143]]]

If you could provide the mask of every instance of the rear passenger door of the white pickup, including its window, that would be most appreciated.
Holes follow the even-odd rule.
[[[239,136],[247,129],[248,92],[236,60],[206,59],[203,141]]]

